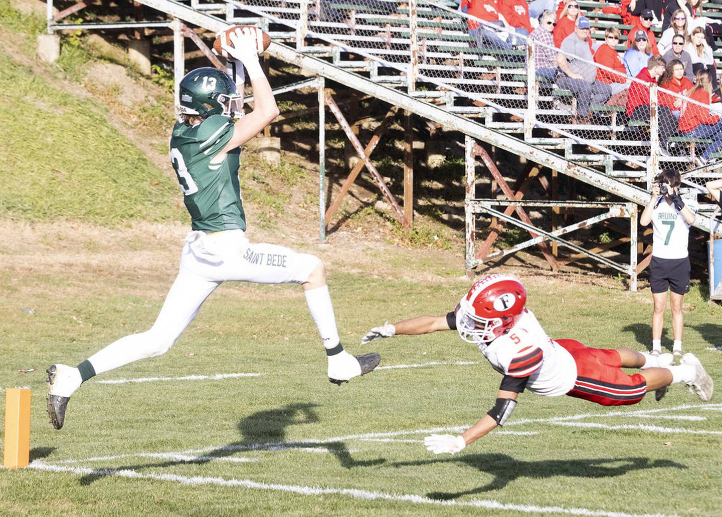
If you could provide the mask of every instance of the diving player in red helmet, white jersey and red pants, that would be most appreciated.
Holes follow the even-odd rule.
[[[460,436],[425,438],[435,454],[461,451],[469,443],[503,425],[525,389],[546,397],[569,395],[604,406],[636,404],[647,392],[664,397],[667,386],[684,382],[700,399],[712,398],[713,381],[691,353],[672,366],[669,353],[651,355],[631,348],[588,348],[576,340],[552,340],[528,308],[526,289],[510,275],[488,275],[471,287],[456,309],[441,316],[421,316],[374,327],[362,339],[397,334],[457,330],[474,343],[503,375],[494,407]],[[627,374],[621,368],[641,368]]]

